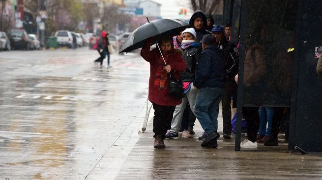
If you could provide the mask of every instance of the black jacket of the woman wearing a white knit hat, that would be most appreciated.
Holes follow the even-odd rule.
[[[183,82],[193,82],[195,80],[196,64],[202,51],[202,47],[199,43],[193,43],[184,50],[183,59],[186,62],[187,67],[186,70],[181,73],[181,80]]]

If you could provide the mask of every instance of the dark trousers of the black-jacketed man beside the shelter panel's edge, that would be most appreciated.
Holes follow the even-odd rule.
[[[234,82],[227,80],[225,82],[225,91],[221,104],[223,106],[223,131],[224,133],[231,134],[232,132],[232,108],[231,108],[231,96],[234,91]]]

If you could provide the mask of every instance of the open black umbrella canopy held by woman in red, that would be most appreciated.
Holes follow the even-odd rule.
[[[146,22],[135,29],[125,40],[120,52],[130,52],[144,45],[144,42],[155,36],[156,40],[162,36],[176,36],[184,29],[191,27],[190,24],[172,19],[159,19]]]

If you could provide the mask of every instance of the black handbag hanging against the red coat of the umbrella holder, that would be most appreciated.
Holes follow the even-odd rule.
[[[183,83],[181,79],[177,79],[170,74],[169,76],[169,94],[176,99],[182,99],[184,97]]]

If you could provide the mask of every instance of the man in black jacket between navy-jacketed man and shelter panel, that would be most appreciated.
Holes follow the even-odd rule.
[[[216,39],[216,46],[223,50],[223,57],[225,62],[225,69],[227,78],[225,78],[225,91],[223,95],[222,114],[223,114],[223,137],[230,139],[232,134],[232,108],[231,108],[231,96],[237,91],[237,86],[234,82],[234,77],[238,73],[238,57],[234,48],[233,42],[229,42],[225,38],[224,27],[216,25],[211,30],[212,35]],[[234,100],[235,101],[235,100]],[[199,137],[199,140],[205,139],[205,133]]]

